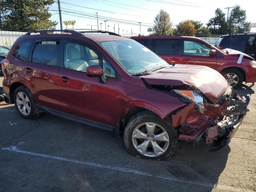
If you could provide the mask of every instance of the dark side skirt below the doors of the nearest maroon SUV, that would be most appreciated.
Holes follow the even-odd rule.
[[[90,125],[90,126],[98,128],[100,130],[106,130],[106,131],[111,131],[111,132],[114,131],[114,127],[106,125],[106,124],[102,124],[102,123],[98,123],[98,122],[88,120],[88,119],[85,119],[85,118],[81,118],[81,117],[78,117],[78,116],[70,115],[68,113],[60,112],[58,110],[54,110],[54,109],[51,109],[51,108],[48,108],[48,107],[45,107],[45,106],[41,106],[41,105],[37,105],[37,106],[42,112],[46,112],[48,114],[52,114],[52,115],[62,117],[62,118],[65,118],[65,119],[69,119],[69,120],[72,120],[72,121],[80,122],[82,124]]]

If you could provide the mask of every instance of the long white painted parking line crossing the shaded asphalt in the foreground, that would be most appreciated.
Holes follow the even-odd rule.
[[[47,155],[47,154],[24,151],[24,150],[19,150],[16,146],[12,146],[11,148],[1,148],[1,150],[8,150],[8,151],[16,152],[16,153],[29,154],[32,156],[40,156],[40,157],[44,157],[44,158],[50,158],[50,159],[62,160],[62,161],[83,164],[83,165],[88,165],[88,166],[94,166],[94,167],[106,168],[106,169],[117,170],[117,171],[122,171],[122,172],[128,172],[128,173],[133,173],[133,174],[138,174],[138,175],[149,176],[149,177],[153,177],[153,178],[160,178],[160,179],[164,179],[164,180],[182,182],[182,183],[198,185],[198,186],[204,186],[204,187],[208,187],[208,188],[215,188],[215,189],[217,188],[217,189],[231,190],[231,191],[236,191],[236,192],[244,192],[244,191],[253,192],[252,190],[246,190],[244,188],[235,188],[235,187],[226,186],[226,185],[194,182],[194,181],[189,181],[189,180],[179,180],[179,179],[171,178],[171,177],[157,176],[152,173],[138,171],[138,170],[134,170],[134,169],[128,169],[128,168],[123,168],[123,167],[110,166],[110,165],[98,164],[98,163],[93,163],[93,162],[88,162],[88,161],[80,161],[80,160],[68,159],[68,158],[64,158],[64,157],[58,157],[58,156],[52,156],[52,155]]]

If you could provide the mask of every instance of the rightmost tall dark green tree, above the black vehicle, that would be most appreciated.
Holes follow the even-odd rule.
[[[246,10],[242,10],[239,5],[234,6],[228,19],[229,33],[250,32],[250,22],[246,22]]]

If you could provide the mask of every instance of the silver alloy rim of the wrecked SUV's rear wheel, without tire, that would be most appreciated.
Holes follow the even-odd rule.
[[[20,112],[24,115],[30,114],[31,105],[28,96],[23,92],[18,92],[16,96],[16,104]]]

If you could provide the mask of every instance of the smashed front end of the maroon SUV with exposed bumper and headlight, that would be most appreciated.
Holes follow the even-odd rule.
[[[211,145],[209,151],[226,146],[249,111],[248,101],[232,87],[215,103],[196,91],[173,90],[172,93],[187,100],[184,108],[172,114],[172,127],[178,128],[179,139],[194,143],[204,140]]]

